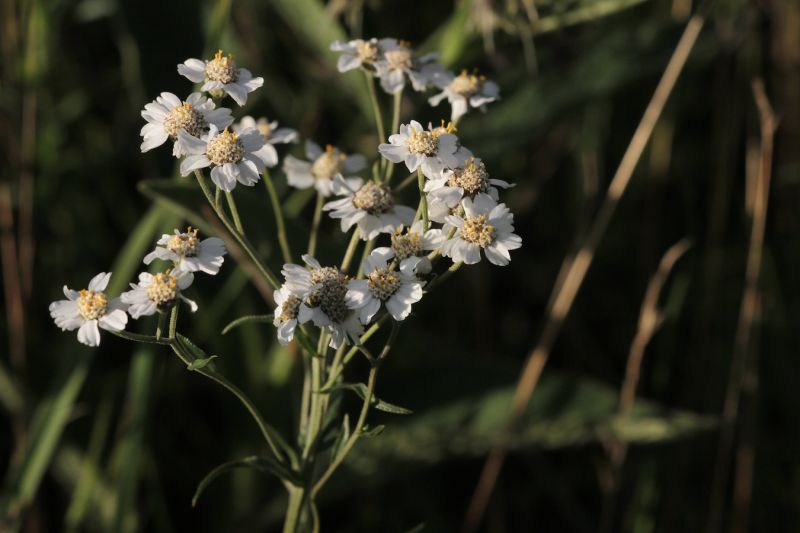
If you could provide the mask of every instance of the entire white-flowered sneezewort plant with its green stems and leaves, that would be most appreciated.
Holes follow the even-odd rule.
[[[110,274],[99,274],[79,292],[64,288],[67,300],[54,302],[50,312],[64,330],[78,329],[78,340],[89,346],[100,344],[99,328],[132,342],[152,343],[171,349],[187,369],[218,383],[245,407],[259,428],[269,450],[267,455],[229,461],[214,469],[198,485],[193,503],[221,472],[234,466],[251,466],[277,476],[288,492],[284,532],[318,531],[317,496],[355,448],[359,439],[375,436],[380,427],[367,425],[370,409],[410,413],[378,400],[376,384],[383,361],[389,357],[400,325],[425,296],[464,264],[485,256],[495,265],[506,265],[510,251],[519,248],[513,215],[498,203],[500,188],[510,187],[490,179],[484,162],[462,146],[455,124],[428,125],[415,120],[401,125],[400,102],[406,85],[423,92],[438,88],[431,98],[438,104],[445,97],[457,121],[471,109],[485,111],[499,98],[497,86],[466,71],[448,73],[435,54],[417,57],[411,45],[396,39],[337,42],[341,72],[360,70],[370,89],[377,131],[372,164],[360,154],[347,154],[332,144],[325,149],[305,142],[307,160],[288,155],[282,165],[287,185],[314,187],[317,201],[310,224],[308,247],[292,250],[286,237],[282,204],[270,168],[278,166],[276,145],[299,141],[296,131],[278,128],[264,118],[242,117],[234,124],[230,109],[221,104],[230,97],[243,105],[248,94],[263,85],[231,55],[218,52],[208,60],[189,59],[178,72],[202,83],[200,92],[181,99],[161,93],[145,105],[147,124],[142,128],[142,151],[172,142],[172,153],[180,159],[183,176],[193,176],[211,212],[230,241],[242,253],[234,258],[252,263],[255,272],[272,287],[275,307],[271,315],[242,317],[223,330],[246,321],[275,329],[278,342],[296,342],[303,358],[305,378],[296,434],[286,438],[264,419],[249,397],[225,378],[214,364],[216,355],[179,332],[181,302],[194,313],[197,304],[184,292],[202,290],[204,275],[216,275],[224,266],[227,250],[217,237],[200,236],[191,227],[175,229],[155,243],[143,262],[159,270],[142,272],[138,283],[118,298],[103,291]],[[379,83],[375,83],[378,78]],[[408,83],[407,83],[408,82]],[[376,91],[391,95],[391,130],[384,131],[383,107]],[[388,134],[388,139],[385,135]],[[387,142],[388,140],[388,142]],[[391,185],[394,166],[410,172],[398,186]],[[371,176],[359,176],[372,169]],[[253,186],[263,179],[274,211],[276,240],[284,265],[281,278],[253,246],[245,231],[231,191],[239,185]],[[416,191],[406,186],[414,181]],[[263,194],[263,193],[262,193]],[[331,196],[338,199],[331,199]],[[223,205],[222,197],[225,196]],[[416,209],[403,205],[414,201]],[[329,214],[325,221],[324,213]],[[338,263],[315,258],[317,232],[323,223],[338,225],[350,234]],[[257,224],[258,221],[251,221]],[[357,261],[359,249],[361,260]],[[303,253],[306,252],[306,253]],[[292,262],[300,256],[302,264]],[[450,258],[450,264],[441,264]],[[356,273],[352,274],[355,269]],[[196,283],[195,283],[196,282]],[[128,318],[158,315],[152,335],[126,331]],[[271,324],[271,325],[270,325]],[[387,331],[388,330],[388,331]],[[367,346],[380,332],[386,338],[379,350]],[[344,381],[344,370],[356,357],[369,364],[365,383]],[[337,412],[337,395],[354,392],[362,400],[354,423]],[[333,426],[329,442],[326,420]]]

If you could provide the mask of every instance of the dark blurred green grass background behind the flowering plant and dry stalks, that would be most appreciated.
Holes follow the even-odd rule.
[[[374,157],[363,79],[338,74],[327,50],[346,35],[441,50],[450,68],[477,67],[502,88],[503,100],[465,117],[459,135],[493,177],[517,183],[503,199],[524,247],[508,267],[484,261],[461,269],[415,306],[378,383],[381,398],[414,414],[371,414],[370,424],[386,430],[359,442],[320,501],[324,531],[458,531],[483,460],[501,442],[561,262],[591,227],[698,7],[692,0],[4,2],[0,531],[280,528],[285,492],[255,471],[219,478],[190,505],[211,468],[261,451],[235,399],[166,349],[110,335],[100,349],[85,348],[54,326],[47,305],[64,283],[83,286],[112,268],[110,291],[120,291],[163,231],[187,222],[209,229],[197,211],[202,198],[175,177],[169,149],[139,152],[144,104],[161,91],[190,92],[176,73],[186,58],[232,51],[265,79],[246,109],[234,111],[239,116],[265,115],[304,138]],[[481,531],[800,530],[800,3],[706,7],[703,32],[511,436]],[[719,417],[751,230],[747,154],[759,141],[756,77],[781,122],[760,313],[749,325],[744,371],[733,374],[744,387],[719,490]],[[383,102],[388,109],[390,99]],[[404,121],[438,122],[448,113],[416,93],[403,102]],[[288,190],[280,172],[275,177],[297,253],[313,201]],[[277,269],[266,194],[256,187],[236,195],[245,227]],[[338,224],[326,220],[322,235],[319,255],[334,261],[345,246]],[[692,247],[662,291],[664,323],[647,347],[636,407],[621,419],[619,390],[642,298],[662,255],[682,238]],[[183,316],[182,329],[219,354],[220,371],[288,433],[299,401],[298,353],[281,349],[264,324],[218,333],[241,315],[271,312],[231,258],[221,275],[198,281],[190,297],[201,310]],[[363,380],[366,368],[359,362],[348,373]],[[342,400],[352,415],[356,400]],[[620,443],[629,449],[617,472],[609,450]]]

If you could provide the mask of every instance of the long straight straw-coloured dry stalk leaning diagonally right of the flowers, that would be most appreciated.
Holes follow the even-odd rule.
[[[675,51],[661,76],[661,80],[653,93],[653,97],[645,109],[644,115],[633,134],[633,138],[622,157],[622,161],[611,180],[603,205],[600,207],[583,245],[574,259],[568,258],[562,265],[563,275],[559,274],[559,278],[563,279],[563,283],[557,284],[554,287],[541,337],[536,347],[528,356],[525,367],[517,383],[511,406],[509,426],[513,426],[516,420],[519,419],[520,413],[522,413],[523,409],[528,404],[536,388],[542,370],[550,356],[553,343],[561,330],[561,325],[575,301],[578,290],[583,285],[586,272],[589,270],[589,266],[594,259],[594,253],[605,234],[619,199],[630,182],[636,164],[639,162],[642,152],[653,133],[653,128],[658,122],[678,76],[686,64],[689,53],[694,48],[694,44],[703,27],[703,22],[704,18],[701,15],[695,15],[687,23],[686,29],[675,47]],[[500,474],[505,456],[506,450],[504,448],[495,449],[489,454],[484,464],[483,471],[481,472],[478,485],[475,488],[475,493],[467,509],[462,529],[465,533],[475,531],[480,524],[486,506],[489,503],[489,498],[494,491],[494,486]]]

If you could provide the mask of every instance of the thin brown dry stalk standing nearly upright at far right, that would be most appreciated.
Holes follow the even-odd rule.
[[[745,385],[753,389],[757,382],[755,375],[755,346],[753,338],[757,332],[757,319],[761,311],[761,263],[764,252],[764,232],[767,223],[767,207],[769,203],[769,188],[772,178],[772,151],[775,130],[778,119],[764,91],[764,82],[760,79],[752,82],[753,98],[758,108],[761,129],[761,146],[757,165],[748,165],[755,168],[756,173],[748,172],[748,191],[746,207],[752,220],[750,230],[750,244],[747,252],[747,267],[745,271],[745,287],[739,307],[739,321],[734,340],[733,360],[731,361],[728,385],[725,391],[725,400],[722,408],[722,426],[719,445],[717,448],[717,462],[714,469],[714,484],[711,491],[711,507],[706,531],[720,530],[722,509],[728,487],[728,474],[730,471],[731,454],[733,453],[734,426],[739,418],[739,404]],[[748,372],[748,368],[752,369]],[[746,429],[746,428],[745,428]],[[747,435],[743,435],[747,437]],[[750,442],[752,444],[752,442]],[[742,443],[737,458],[736,482],[734,485],[734,507],[731,517],[732,531],[745,531],[750,507],[750,494],[752,489],[752,449],[747,448],[747,442]]]

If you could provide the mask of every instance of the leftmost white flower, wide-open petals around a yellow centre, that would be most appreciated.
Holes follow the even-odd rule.
[[[78,330],[78,342],[86,346],[100,345],[98,326],[108,331],[122,331],[128,323],[125,305],[119,298],[108,299],[103,292],[111,273],[101,272],[89,282],[89,288],[70,290],[64,285],[66,300],[50,304],[50,316],[62,331]]]

